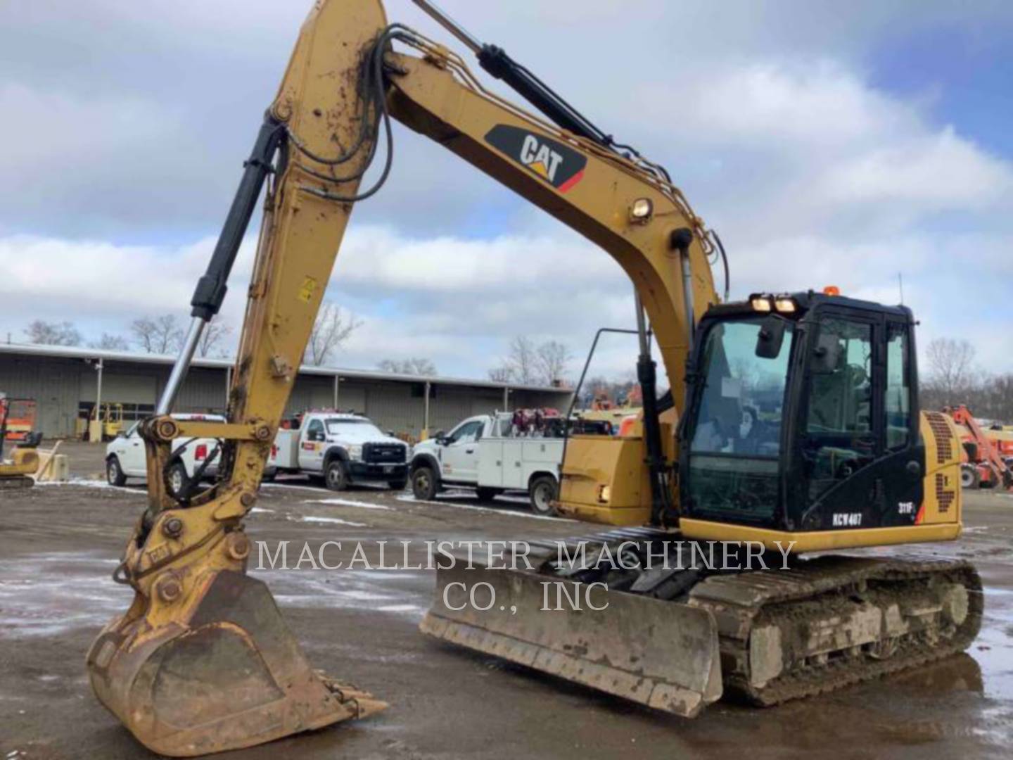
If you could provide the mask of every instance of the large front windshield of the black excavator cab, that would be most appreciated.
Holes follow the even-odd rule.
[[[787,325],[780,352],[766,359],[756,354],[762,322],[726,320],[703,338],[704,386],[690,427],[688,486],[695,512],[767,520],[777,505],[793,329]]]

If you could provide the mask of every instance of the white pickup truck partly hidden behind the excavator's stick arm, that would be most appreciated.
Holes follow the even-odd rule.
[[[221,414],[173,414],[173,420],[188,420],[208,423],[224,423]],[[110,485],[124,485],[127,478],[147,480],[148,470],[145,458],[144,439],[138,432],[140,423],[134,423],[130,430],[121,433],[105,447],[105,478]],[[214,477],[218,471],[218,441],[214,438],[177,438],[172,442],[172,458],[166,474],[166,481],[174,493],[181,493],[193,479],[198,468],[208,457],[211,461],[203,471],[203,476]],[[274,464],[268,462],[264,476],[274,475]]]

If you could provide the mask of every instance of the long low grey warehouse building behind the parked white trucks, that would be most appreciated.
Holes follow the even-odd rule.
[[[154,354],[0,344],[0,391],[35,400],[36,428],[46,438],[71,437],[96,399],[102,405],[122,404],[125,427],[151,414],[173,361]],[[231,375],[229,360],[196,359],[175,410],[223,412]],[[493,409],[564,409],[569,398],[561,388],[304,366],[286,412],[352,410],[395,435],[417,438],[426,427],[449,430],[466,416]]]

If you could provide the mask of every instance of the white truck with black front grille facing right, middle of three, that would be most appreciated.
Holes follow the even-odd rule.
[[[385,435],[368,417],[310,411],[275,439],[279,472],[322,477],[331,490],[350,483],[385,482],[394,490],[408,483],[408,446]]]

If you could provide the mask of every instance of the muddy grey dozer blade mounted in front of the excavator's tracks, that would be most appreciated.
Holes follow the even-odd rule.
[[[489,587],[477,586],[481,583]],[[570,609],[565,601],[565,611],[555,609],[557,583],[566,587],[568,598],[580,600],[581,609]],[[485,611],[472,606],[472,589],[481,607],[488,605],[491,589],[492,606]],[[437,572],[436,599],[419,627],[437,638],[685,717],[721,696],[717,625],[709,611],[601,587],[586,597],[587,590],[532,572],[457,563]],[[604,609],[591,607],[606,603]]]

